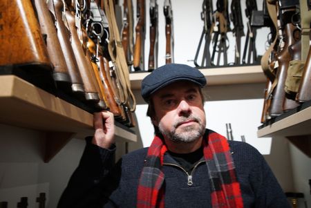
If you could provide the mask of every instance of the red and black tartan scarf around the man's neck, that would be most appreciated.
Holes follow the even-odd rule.
[[[203,153],[211,185],[211,206],[242,208],[240,184],[236,178],[234,161],[227,139],[207,129],[202,141]],[[164,173],[162,164],[167,146],[155,136],[148,149],[140,175],[137,207],[164,207]]]

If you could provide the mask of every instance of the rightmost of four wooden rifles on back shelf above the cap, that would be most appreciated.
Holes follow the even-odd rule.
[[[163,6],[163,12],[165,17],[165,64],[173,63],[173,10],[171,9],[171,0],[165,0]]]

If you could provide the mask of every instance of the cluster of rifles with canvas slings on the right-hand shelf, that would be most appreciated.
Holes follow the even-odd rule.
[[[261,59],[267,77],[261,122],[311,100],[309,0],[265,1],[272,39]]]

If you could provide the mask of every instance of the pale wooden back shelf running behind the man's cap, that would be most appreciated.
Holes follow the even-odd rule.
[[[200,68],[199,70],[207,78],[208,86],[263,83],[267,80],[259,65]],[[148,72],[130,73],[131,88],[140,89],[142,79],[147,75]]]

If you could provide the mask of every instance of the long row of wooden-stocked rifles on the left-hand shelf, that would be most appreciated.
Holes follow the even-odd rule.
[[[57,88],[94,111],[111,111],[134,126],[113,0],[1,0],[0,39],[1,69],[48,73]]]

